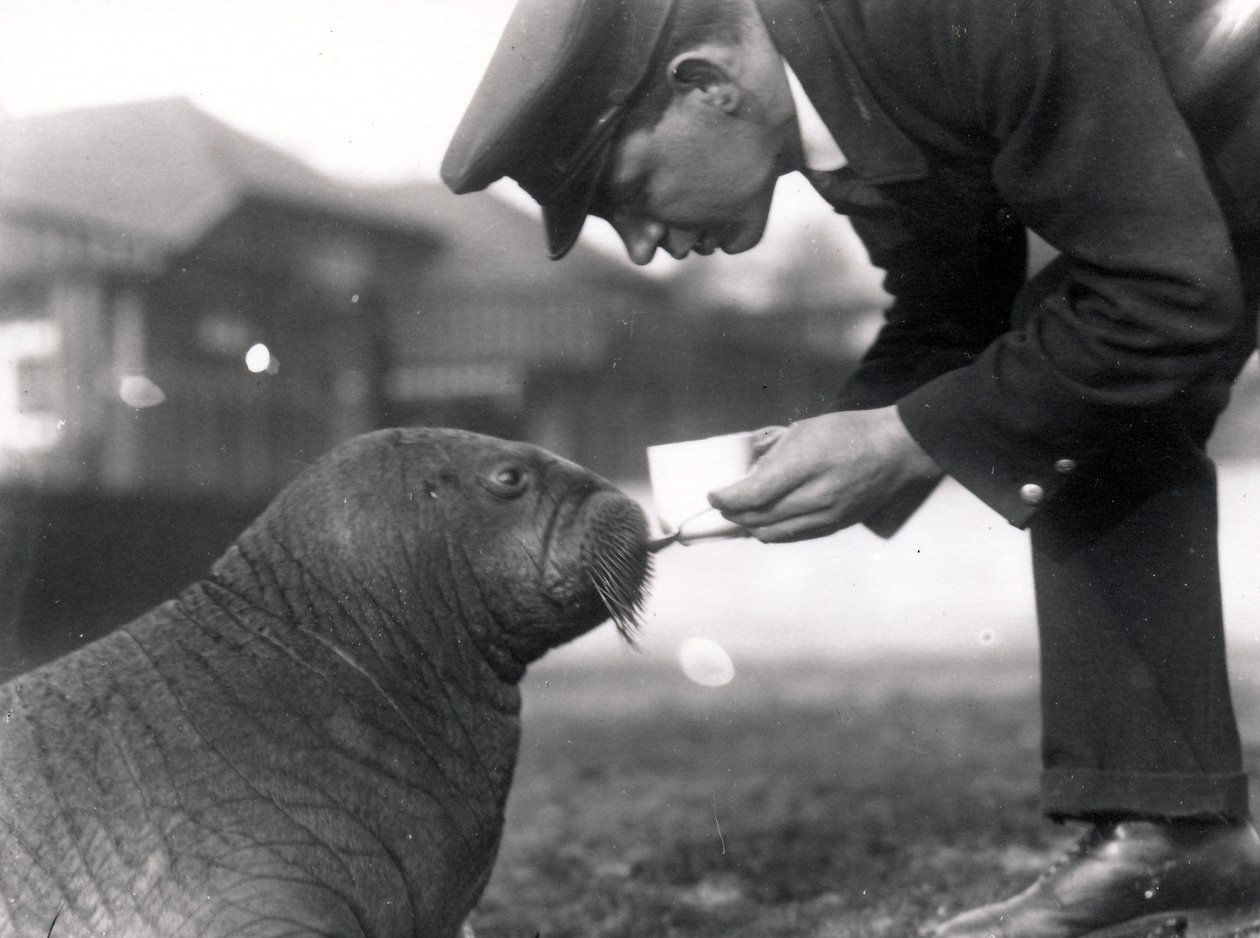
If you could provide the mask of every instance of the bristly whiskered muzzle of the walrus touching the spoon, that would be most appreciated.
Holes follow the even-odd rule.
[[[602,503],[591,518],[582,565],[621,638],[634,644],[651,574],[648,522],[629,499]]]

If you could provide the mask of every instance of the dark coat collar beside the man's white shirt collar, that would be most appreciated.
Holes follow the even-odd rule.
[[[853,170],[868,183],[927,175],[927,160],[862,78],[832,19],[827,0],[756,0],[779,53],[830,127]]]

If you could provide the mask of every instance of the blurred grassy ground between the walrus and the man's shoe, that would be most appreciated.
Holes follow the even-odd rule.
[[[1022,886],[1076,835],[1037,813],[1034,669],[777,663],[711,690],[544,662],[478,938],[911,935]]]

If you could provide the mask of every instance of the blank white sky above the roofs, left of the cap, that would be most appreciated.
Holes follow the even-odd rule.
[[[180,95],[358,179],[437,174],[512,0],[4,0],[0,112]]]

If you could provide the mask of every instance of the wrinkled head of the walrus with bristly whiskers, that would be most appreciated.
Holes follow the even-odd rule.
[[[300,595],[335,603],[360,633],[470,638],[513,681],[607,619],[633,643],[650,566],[643,511],[612,484],[538,446],[460,430],[350,440],[255,527],[238,548],[289,571],[285,591],[296,574]]]

